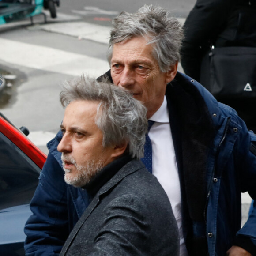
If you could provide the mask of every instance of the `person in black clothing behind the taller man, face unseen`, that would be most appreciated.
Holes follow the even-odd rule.
[[[211,45],[256,47],[256,0],[197,0],[184,23],[184,33],[182,68],[204,85],[201,62]],[[233,107],[256,133],[255,98],[215,97]]]

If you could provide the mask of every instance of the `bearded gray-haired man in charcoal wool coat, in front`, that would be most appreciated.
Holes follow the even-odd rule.
[[[147,109],[128,92],[88,77],[69,83],[60,101],[64,180],[90,198],[60,255],[178,256],[169,199],[139,161]]]

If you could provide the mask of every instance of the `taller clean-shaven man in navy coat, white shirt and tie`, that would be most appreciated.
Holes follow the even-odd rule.
[[[182,38],[181,24],[161,7],[145,5],[136,13],[123,12],[113,20],[110,70],[103,77],[143,102],[147,119],[154,122],[148,133],[152,152],[147,147],[149,158],[142,160],[172,205],[180,256],[256,255],[255,212],[241,228],[241,192],[256,198],[256,136],[233,109],[177,72]],[[60,138],[57,134],[48,144],[50,153],[42,171],[55,181],[63,176],[56,153]],[[40,183],[46,180],[43,177]],[[49,250],[60,251],[68,227],[87,207],[85,191],[72,190],[63,197],[67,189],[61,183],[58,187],[49,186],[57,192],[45,209],[47,188],[38,186],[31,203],[34,219],[25,227],[28,255],[37,255],[33,252],[40,252],[45,244],[50,244]],[[53,211],[56,206],[63,216],[60,222]],[[53,215],[40,215],[41,209]],[[75,209],[76,216],[65,215],[67,209]],[[52,222],[63,233],[55,233]]]

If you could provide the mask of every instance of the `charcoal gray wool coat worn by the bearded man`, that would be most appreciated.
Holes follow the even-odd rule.
[[[169,199],[142,162],[129,161],[99,188],[64,244],[64,255],[179,255]]]

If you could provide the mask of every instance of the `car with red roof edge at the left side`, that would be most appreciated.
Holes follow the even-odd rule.
[[[3,79],[0,76],[0,83]],[[24,256],[25,222],[46,155],[0,112],[0,255]]]

